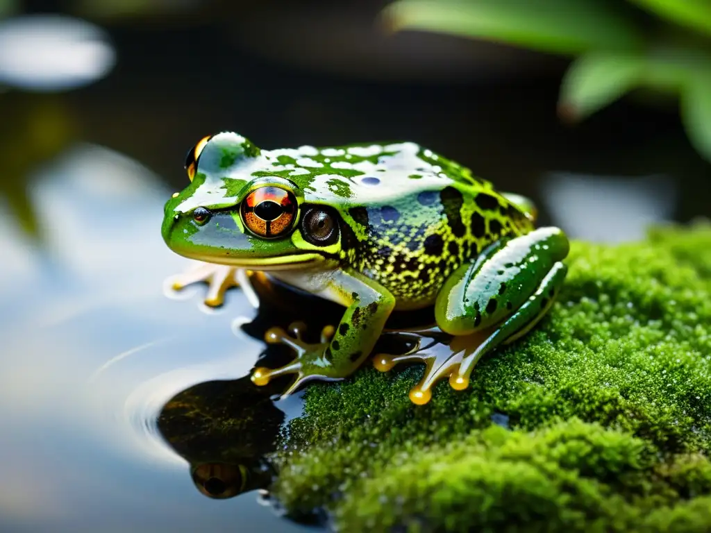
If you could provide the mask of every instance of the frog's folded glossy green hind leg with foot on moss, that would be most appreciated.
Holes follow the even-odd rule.
[[[561,261],[568,248],[567,237],[555,227],[491,244],[439,291],[434,316],[451,339],[427,344],[422,338],[432,335],[417,333],[420,339],[407,353],[376,355],[375,368],[385,372],[400,362],[424,362],[424,375],[410,391],[418,405],[429,402],[442,379],[465,389],[483,355],[525,335],[545,316],[565,279]]]

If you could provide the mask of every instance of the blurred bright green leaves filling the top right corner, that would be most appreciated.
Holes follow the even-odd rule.
[[[632,90],[678,97],[690,142],[711,161],[708,0],[398,0],[393,31],[420,29],[571,55],[558,112],[579,121]]]

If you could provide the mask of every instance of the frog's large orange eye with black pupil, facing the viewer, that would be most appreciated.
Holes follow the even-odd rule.
[[[288,190],[264,186],[252,190],[242,202],[245,226],[260,237],[279,237],[292,228],[296,198]]]

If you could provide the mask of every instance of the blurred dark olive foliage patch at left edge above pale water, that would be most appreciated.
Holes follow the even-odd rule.
[[[33,171],[60,154],[75,140],[75,124],[62,99],[54,95],[9,92],[0,97],[0,198],[19,227],[40,238],[29,188]]]

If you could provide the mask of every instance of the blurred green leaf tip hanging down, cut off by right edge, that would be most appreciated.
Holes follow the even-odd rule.
[[[681,119],[691,144],[711,163],[711,72],[698,75],[685,87]]]

